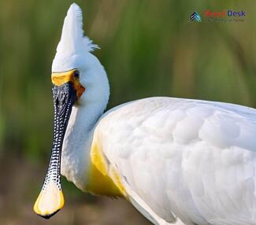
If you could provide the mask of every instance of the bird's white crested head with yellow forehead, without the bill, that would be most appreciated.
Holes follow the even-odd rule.
[[[52,83],[61,87],[65,83],[72,83],[78,100],[85,90],[90,69],[97,65],[97,58],[91,54],[98,48],[83,33],[83,17],[79,6],[73,3],[65,17],[61,40],[52,65]],[[94,74],[90,73],[89,79]]]

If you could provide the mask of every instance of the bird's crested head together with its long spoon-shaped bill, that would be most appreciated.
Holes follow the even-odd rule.
[[[54,142],[50,165],[43,188],[35,201],[34,211],[48,219],[64,205],[61,191],[61,148],[73,105],[102,103],[106,107],[109,85],[106,72],[91,51],[98,46],[83,34],[83,17],[79,6],[72,4],[62,28],[61,40],[52,65],[54,85]],[[101,92],[105,93],[101,93]],[[77,104],[76,104],[77,102]],[[98,104],[98,103],[97,103]],[[89,106],[87,106],[89,107]]]

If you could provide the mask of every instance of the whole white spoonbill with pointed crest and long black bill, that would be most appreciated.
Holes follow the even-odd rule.
[[[256,110],[145,98],[102,114],[109,82],[76,4],[52,65],[54,144],[34,210],[64,205],[60,172],[80,190],[124,197],[154,224],[256,224]]]

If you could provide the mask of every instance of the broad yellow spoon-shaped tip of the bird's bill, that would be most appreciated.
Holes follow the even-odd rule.
[[[64,205],[64,196],[55,183],[49,183],[41,190],[35,201],[34,211],[45,219],[50,219]]]

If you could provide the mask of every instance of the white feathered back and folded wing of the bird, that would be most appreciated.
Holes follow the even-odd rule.
[[[127,189],[160,219],[256,224],[255,109],[145,98],[106,112],[95,133]]]

